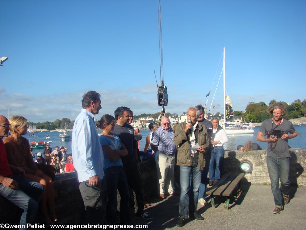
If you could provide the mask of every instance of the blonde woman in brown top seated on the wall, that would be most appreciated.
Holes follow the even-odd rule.
[[[20,116],[13,116],[9,119],[9,123],[11,124],[10,131],[12,135],[3,141],[9,164],[23,168],[27,179],[38,182],[45,187],[45,192],[39,202],[39,209],[43,215],[44,223],[54,224],[57,222],[57,217],[54,208],[52,179],[36,167],[30,153],[29,141],[21,136],[27,134],[27,119]],[[47,204],[50,216],[47,212]]]

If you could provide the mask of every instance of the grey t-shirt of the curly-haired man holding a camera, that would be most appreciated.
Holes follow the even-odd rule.
[[[276,127],[275,123],[273,124],[273,129]],[[268,118],[263,121],[259,132],[263,132],[264,135],[267,134],[268,130],[272,130],[272,118]],[[292,123],[286,119],[283,120],[282,124],[275,128],[275,130],[282,130],[285,133],[294,133],[295,128]],[[272,148],[275,143],[272,143]],[[276,146],[271,150],[271,143],[268,143],[267,156],[282,158],[282,157],[290,157],[289,149],[288,149],[288,140],[282,140],[282,138],[278,138],[276,142]]]

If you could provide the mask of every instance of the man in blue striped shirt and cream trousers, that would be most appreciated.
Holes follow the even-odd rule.
[[[165,180],[170,180],[168,193],[174,193],[174,162],[176,146],[173,142],[174,132],[170,127],[169,118],[162,117],[161,126],[152,134],[151,149],[156,152],[155,162],[159,179],[159,198],[165,198]]]

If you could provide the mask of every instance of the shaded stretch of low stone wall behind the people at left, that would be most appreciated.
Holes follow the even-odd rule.
[[[144,200],[146,201],[157,194],[155,163],[149,161],[140,162],[140,173],[143,184]],[[84,203],[74,172],[57,174],[53,185],[55,211],[59,220],[61,220],[61,224],[84,223]],[[105,203],[105,185],[102,190],[103,201]],[[104,207],[106,207],[106,205],[104,205]],[[73,215],[71,215],[72,212]],[[0,196],[0,223],[19,224],[21,213],[21,209]],[[35,223],[39,223],[40,219],[41,216],[38,211]]]

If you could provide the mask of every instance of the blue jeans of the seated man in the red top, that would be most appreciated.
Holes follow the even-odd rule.
[[[38,202],[43,196],[44,187],[21,176],[10,175],[8,177],[15,180],[19,188],[14,190],[0,184],[0,194],[24,210],[20,218],[20,224],[24,224],[25,228],[20,229],[27,229],[27,224],[31,224],[34,220]]]

